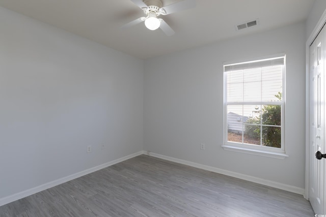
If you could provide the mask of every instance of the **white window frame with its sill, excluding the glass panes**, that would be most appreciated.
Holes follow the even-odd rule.
[[[279,102],[227,102],[227,72],[225,72],[225,67],[230,65],[244,64],[244,63],[255,63],[267,59],[275,59],[284,57],[284,66],[282,69],[282,101]],[[285,69],[286,69],[286,55],[284,53],[277,54],[273,56],[259,57],[255,59],[247,59],[242,61],[234,61],[231,63],[223,63],[224,70],[224,144],[222,147],[224,150],[236,151],[241,153],[255,154],[264,157],[285,159],[288,157],[285,151]],[[267,147],[262,145],[252,145],[246,143],[231,142],[228,140],[228,121],[227,121],[227,106],[228,105],[281,105],[281,148]]]

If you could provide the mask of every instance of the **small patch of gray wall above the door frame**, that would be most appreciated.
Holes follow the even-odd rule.
[[[306,38],[308,39],[317,25],[321,15],[326,10],[326,1],[325,0],[315,0],[313,7],[309,13],[307,18],[307,31]]]

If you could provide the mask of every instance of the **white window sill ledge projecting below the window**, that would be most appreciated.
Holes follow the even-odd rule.
[[[249,154],[254,154],[254,155],[268,157],[268,158],[276,158],[276,159],[284,160],[286,157],[289,157],[285,153],[278,153],[278,152],[272,152],[272,151],[257,150],[257,149],[251,149],[251,148],[245,148],[245,147],[236,147],[236,146],[231,146],[231,145],[222,145],[222,147],[224,150],[228,150],[228,151],[249,153]]]

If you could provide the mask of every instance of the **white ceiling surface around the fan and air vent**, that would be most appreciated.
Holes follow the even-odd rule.
[[[121,29],[144,16],[130,0],[0,0],[0,6],[146,59],[303,21],[314,1],[197,0],[194,9],[160,16],[176,32],[170,37],[161,29],[147,29],[144,23]],[[235,25],[257,18],[259,25],[235,30]]]

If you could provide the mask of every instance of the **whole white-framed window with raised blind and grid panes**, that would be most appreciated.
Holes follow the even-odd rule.
[[[224,65],[225,148],[285,152],[284,76],[284,55]]]

